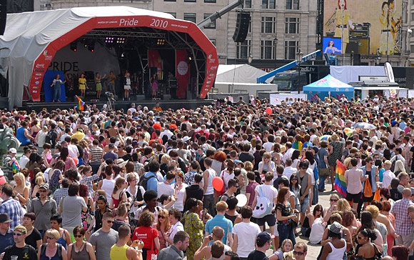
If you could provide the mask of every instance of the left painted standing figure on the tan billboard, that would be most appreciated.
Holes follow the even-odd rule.
[[[336,29],[335,38],[342,39],[342,50],[346,51],[346,45],[349,43],[349,28],[354,29],[350,20],[350,11],[346,8],[346,0],[338,0],[338,11],[336,11]]]

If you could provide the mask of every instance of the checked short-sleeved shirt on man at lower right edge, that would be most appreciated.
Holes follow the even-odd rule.
[[[395,201],[391,213],[395,216],[395,233],[400,236],[407,236],[413,232],[413,221],[408,216],[408,206],[414,205],[408,198]]]

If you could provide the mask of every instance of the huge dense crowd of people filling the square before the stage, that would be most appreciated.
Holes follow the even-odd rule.
[[[0,171],[4,260],[303,260],[298,235],[322,260],[413,259],[413,99],[1,111],[6,127],[24,146]]]

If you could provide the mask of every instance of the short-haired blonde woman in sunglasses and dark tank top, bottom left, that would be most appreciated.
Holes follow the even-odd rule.
[[[56,243],[61,236],[59,231],[49,229],[46,231],[46,243],[40,246],[37,252],[39,260],[67,260],[66,249],[61,244]]]

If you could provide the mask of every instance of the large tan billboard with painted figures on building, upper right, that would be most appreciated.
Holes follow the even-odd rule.
[[[401,0],[325,0],[323,36],[341,53],[399,55],[401,15]]]

